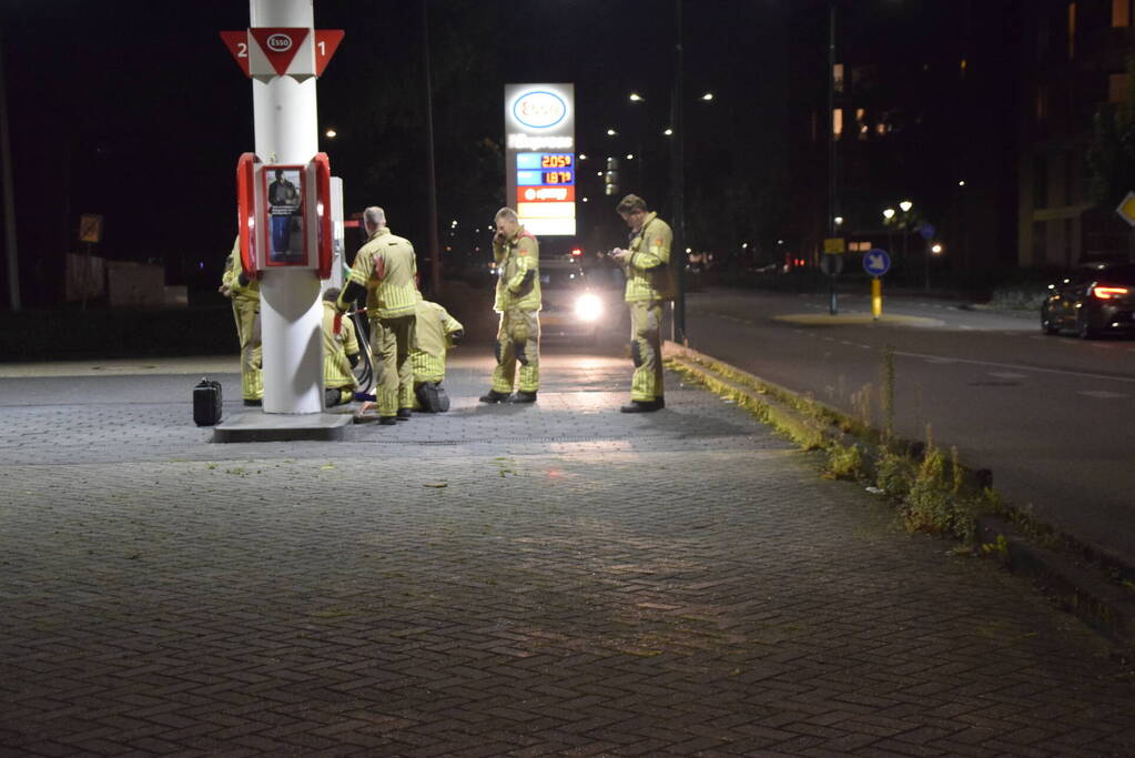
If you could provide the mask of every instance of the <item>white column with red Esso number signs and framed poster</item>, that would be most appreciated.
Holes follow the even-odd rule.
[[[330,169],[317,154],[316,79],[343,32],[313,28],[312,0],[249,0],[249,30],[221,32],[221,40],[253,79],[255,153],[238,163],[237,192],[242,258],[260,280],[263,410],[319,413],[320,279],[329,275],[333,227]]]

